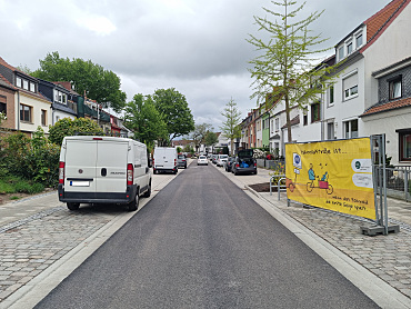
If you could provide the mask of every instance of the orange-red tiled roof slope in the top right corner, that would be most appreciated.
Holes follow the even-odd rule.
[[[370,47],[394,21],[411,0],[392,0],[383,9],[374,13],[363,22],[367,26],[367,44],[361,49],[363,52]]]

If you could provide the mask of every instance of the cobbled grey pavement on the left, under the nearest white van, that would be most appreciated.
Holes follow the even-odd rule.
[[[173,177],[153,176],[152,196]],[[8,308],[14,292],[124,213],[127,207],[113,205],[69,211],[57,191],[0,206],[0,308]]]

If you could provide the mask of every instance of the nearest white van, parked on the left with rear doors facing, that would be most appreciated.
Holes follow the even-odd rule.
[[[146,144],[114,137],[66,137],[58,193],[70,210],[80,203],[119,203],[137,210],[140,195],[151,195]]]

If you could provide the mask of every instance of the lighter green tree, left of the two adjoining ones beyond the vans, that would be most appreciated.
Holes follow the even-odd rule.
[[[134,131],[134,139],[152,146],[158,139],[167,139],[167,124],[156,109],[151,96],[136,94],[126,106],[126,126]]]

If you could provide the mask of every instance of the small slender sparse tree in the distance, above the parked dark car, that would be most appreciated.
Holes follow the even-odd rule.
[[[231,154],[233,153],[234,139],[241,137],[241,112],[237,108],[237,103],[231,99],[224,110],[221,112],[225,117],[225,121],[220,127],[222,134],[230,139],[231,142]]]

